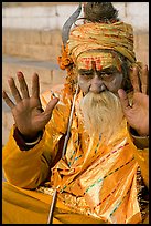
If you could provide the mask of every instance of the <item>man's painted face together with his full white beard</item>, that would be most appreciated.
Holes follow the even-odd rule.
[[[77,59],[79,109],[89,135],[107,140],[120,130],[123,117],[117,91],[122,86],[121,62],[111,53],[87,52]],[[104,91],[104,92],[103,92]]]

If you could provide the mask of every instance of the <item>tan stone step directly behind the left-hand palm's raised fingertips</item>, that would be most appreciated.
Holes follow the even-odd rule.
[[[3,55],[2,88],[6,91],[9,92],[8,78],[14,76],[14,80],[17,81],[15,74],[18,71],[24,73],[29,88],[31,88],[31,76],[36,72],[40,76],[41,92],[44,92],[56,84],[64,83],[66,75],[66,72],[58,68],[57,62]]]

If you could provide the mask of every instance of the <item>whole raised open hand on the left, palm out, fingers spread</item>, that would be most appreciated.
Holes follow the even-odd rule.
[[[37,133],[42,131],[50,121],[52,111],[58,102],[58,99],[55,97],[50,101],[45,111],[43,111],[40,100],[39,75],[36,73],[33,74],[31,97],[29,95],[29,89],[23,73],[18,72],[17,76],[21,93],[19,92],[13,78],[8,80],[15,103],[8,96],[6,91],[2,92],[2,97],[12,111],[18,130],[26,140],[32,140],[36,137]]]

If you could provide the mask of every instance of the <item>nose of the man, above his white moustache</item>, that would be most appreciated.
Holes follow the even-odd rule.
[[[95,74],[95,76],[91,79],[89,91],[94,93],[100,93],[105,90],[106,86],[103,80],[97,74]]]

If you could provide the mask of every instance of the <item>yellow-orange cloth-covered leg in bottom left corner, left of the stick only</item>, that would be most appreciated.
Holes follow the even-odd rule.
[[[2,224],[45,224],[50,206],[9,183],[2,185]]]

